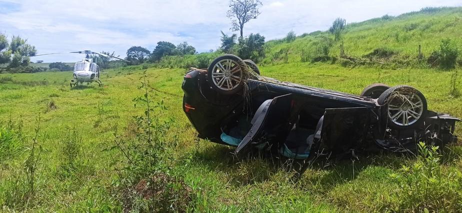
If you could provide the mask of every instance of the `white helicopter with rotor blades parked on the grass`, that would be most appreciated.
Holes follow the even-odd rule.
[[[41,55],[51,55],[51,54],[64,54],[67,52],[57,52],[57,53],[47,53],[47,54],[40,54],[40,55],[34,55],[34,56],[41,56]],[[96,82],[98,83],[99,86],[102,86],[101,80],[99,80],[99,66],[96,64],[96,62],[93,62],[93,59],[90,57],[90,55],[97,54],[101,55],[104,57],[109,57],[109,58],[116,58],[119,60],[127,61],[122,58],[118,58],[115,56],[110,56],[98,52],[93,52],[90,50],[83,50],[83,51],[76,51],[76,52],[68,52],[68,53],[79,53],[79,54],[85,54],[85,58],[82,59],[82,61],[77,62],[74,64],[74,72],[73,72],[73,78],[70,79],[70,87],[75,87],[79,83],[92,83]],[[129,61],[127,61],[129,62]]]

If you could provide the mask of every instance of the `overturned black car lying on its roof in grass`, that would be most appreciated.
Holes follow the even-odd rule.
[[[236,154],[259,148],[305,159],[319,150],[412,151],[419,141],[457,141],[460,120],[427,110],[410,86],[373,84],[358,96],[263,77],[252,61],[223,55],[208,70],[192,68],[181,87],[199,137],[235,146]]]

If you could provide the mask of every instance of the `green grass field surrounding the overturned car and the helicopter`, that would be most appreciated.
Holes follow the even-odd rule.
[[[351,69],[325,63],[289,63],[260,69],[263,75],[280,80],[353,94],[374,82],[407,84],[425,94],[429,109],[462,117],[462,99],[449,95],[452,75],[449,71]],[[437,211],[462,210],[462,196],[454,197],[444,191],[448,188],[434,188],[431,192],[437,194],[438,199],[433,201],[402,192],[402,186],[390,175],[399,174],[403,165],[412,166],[419,161],[413,157],[384,152],[359,156],[354,161],[314,161],[300,180],[293,182],[292,169],[297,162],[258,155],[236,159],[230,147],[203,140],[196,142],[195,130],[181,109],[180,85],[185,71],[148,68],[146,80],[150,86],[149,97],[154,102],[163,100],[167,107],[155,116],[172,118],[174,122],[175,128],[168,134],[176,135],[176,139],[174,146],[168,148],[167,164],[169,173],[190,187],[193,196],[186,211],[383,212],[422,210],[419,209],[422,207]],[[114,134],[135,137],[130,134],[132,116],[143,115],[144,109],[134,107],[132,99],[144,94],[138,89],[143,80],[142,69],[135,66],[109,71],[102,76],[104,87],[92,84],[70,89],[67,82],[70,76],[71,72],[0,75],[0,120],[3,121],[0,127],[6,128],[9,120],[21,122],[23,135],[22,140],[9,146],[8,153],[0,151],[3,211],[121,211],[123,200],[114,190],[119,183],[116,171],[126,166],[127,161],[116,150],[102,150],[114,145]],[[459,78],[457,85],[460,85]],[[42,151],[33,179],[35,193],[27,196],[25,174],[28,172],[24,167],[38,117],[37,141]],[[11,129],[19,132],[17,125]],[[460,135],[462,129],[458,128],[456,133]],[[77,143],[69,143],[74,140]],[[442,153],[437,168],[443,174],[462,169],[459,144]],[[65,170],[69,158],[73,167]]]

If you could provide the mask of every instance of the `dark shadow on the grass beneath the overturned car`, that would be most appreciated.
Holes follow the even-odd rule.
[[[274,176],[282,176],[283,180],[292,183],[302,179],[303,184],[316,183],[322,185],[322,190],[329,190],[354,180],[367,167],[380,166],[395,170],[410,158],[405,154],[375,152],[362,153],[356,158],[351,155],[324,155],[293,160],[265,150],[253,150],[239,157],[233,152],[233,147],[210,144],[197,151],[192,160],[201,168],[225,173],[230,179],[229,183],[234,186],[262,183]]]

